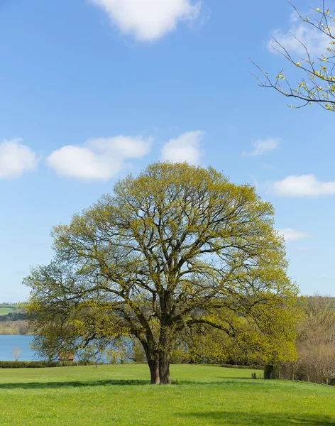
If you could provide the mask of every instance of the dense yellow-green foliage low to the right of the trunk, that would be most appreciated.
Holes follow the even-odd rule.
[[[219,318],[229,317],[229,312],[216,312]],[[234,338],[221,329],[200,327],[197,332],[185,332],[172,352],[177,363],[207,364],[267,364],[276,361],[296,359],[295,325],[302,317],[302,310],[296,306],[268,306],[258,317],[256,324],[251,315],[230,315],[230,332]],[[269,326],[270,324],[270,326]],[[268,327],[275,329],[268,330]],[[265,329],[265,330],[264,330]]]

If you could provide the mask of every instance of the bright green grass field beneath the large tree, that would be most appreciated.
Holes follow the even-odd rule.
[[[335,388],[252,380],[252,370],[145,365],[1,369],[0,425],[335,425]]]

